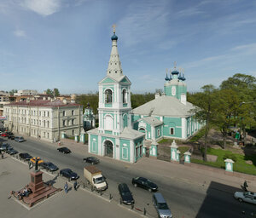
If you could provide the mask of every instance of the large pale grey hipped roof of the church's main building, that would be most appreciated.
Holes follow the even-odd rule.
[[[177,98],[172,96],[160,96],[154,100],[150,100],[142,106],[133,109],[134,114],[153,115],[153,116],[167,116],[167,117],[189,117],[191,116],[191,109],[193,106],[188,101],[186,105],[181,103]]]

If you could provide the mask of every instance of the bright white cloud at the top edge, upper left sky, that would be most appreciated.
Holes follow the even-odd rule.
[[[25,9],[30,9],[44,16],[54,14],[61,8],[61,0],[24,0],[20,4]]]

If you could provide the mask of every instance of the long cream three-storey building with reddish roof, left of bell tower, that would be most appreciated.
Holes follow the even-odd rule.
[[[83,107],[61,100],[22,100],[3,107],[4,126],[16,134],[44,141],[59,141],[61,133],[79,135],[83,128]]]

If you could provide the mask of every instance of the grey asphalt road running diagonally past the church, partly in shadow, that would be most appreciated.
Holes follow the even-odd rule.
[[[3,140],[3,138],[2,138]],[[84,155],[78,153],[63,154],[58,152],[54,146],[49,146],[43,141],[27,141],[19,143],[10,141],[18,152],[28,152],[32,156],[38,156],[44,161],[50,161],[60,169],[70,168],[80,175],[83,181]],[[101,159],[101,158],[100,158]],[[131,179],[137,176],[144,176],[154,181],[159,186],[166,198],[167,204],[172,210],[174,217],[253,217],[256,214],[256,206],[253,204],[239,203],[233,198],[233,194],[225,192],[223,184],[212,184],[204,187],[198,184],[183,181],[182,178],[175,178],[172,175],[155,175],[154,172],[143,169],[131,169],[130,164],[119,164],[112,159],[101,159],[97,166],[102,169],[103,175],[107,177],[108,193],[113,195],[113,199],[119,202],[117,186],[125,182],[130,186],[135,198],[137,209],[147,209],[149,215],[156,216],[152,206],[152,193],[131,185]],[[214,185],[214,186],[213,186]],[[230,188],[230,187],[229,187]],[[236,189],[234,188],[234,191]],[[242,213],[244,211],[244,213]]]

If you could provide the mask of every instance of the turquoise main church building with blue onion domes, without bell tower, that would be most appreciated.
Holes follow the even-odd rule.
[[[166,74],[164,93],[156,94],[154,100],[133,109],[133,129],[145,133],[148,141],[163,138],[187,140],[201,129],[202,123],[194,117],[195,106],[187,101],[184,81],[185,77],[174,66],[170,77]]]

